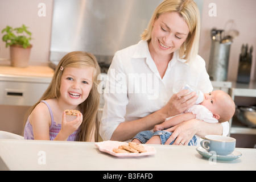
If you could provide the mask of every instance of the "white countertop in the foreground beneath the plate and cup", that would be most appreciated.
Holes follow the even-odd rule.
[[[256,149],[236,148],[233,161],[209,161],[196,146],[150,145],[156,154],[118,158],[93,142],[0,139],[0,169],[10,170],[256,170]]]

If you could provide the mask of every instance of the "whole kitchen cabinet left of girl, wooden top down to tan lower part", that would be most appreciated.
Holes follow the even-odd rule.
[[[0,65],[0,130],[22,135],[27,110],[48,88],[53,69]]]

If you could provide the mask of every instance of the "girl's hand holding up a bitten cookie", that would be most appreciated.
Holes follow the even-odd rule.
[[[73,121],[67,122],[66,113],[64,111],[62,114],[62,123],[61,123],[60,132],[68,138],[69,135],[74,133],[79,128],[81,123],[82,123],[82,113],[77,114],[76,119],[74,119]]]

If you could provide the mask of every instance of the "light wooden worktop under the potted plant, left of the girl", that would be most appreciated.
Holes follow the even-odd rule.
[[[18,76],[52,77],[53,69],[46,66],[28,66],[26,68],[0,66],[0,74]]]

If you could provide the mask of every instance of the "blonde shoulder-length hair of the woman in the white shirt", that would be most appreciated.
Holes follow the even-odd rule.
[[[189,35],[186,41],[180,46],[179,58],[194,60],[199,51],[200,39],[200,12],[193,0],[165,0],[156,7],[147,29],[141,35],[142,40],[150,42],[153,24],[161,14],[176,12],[184,18],[189,27]]]

